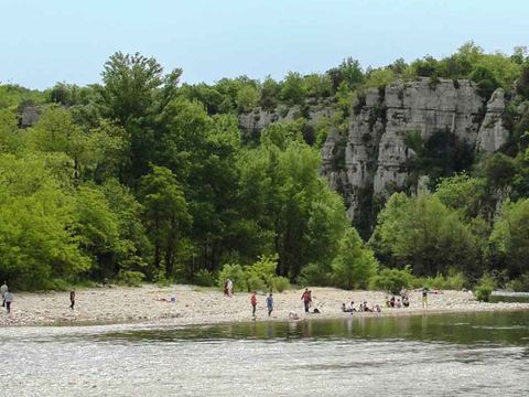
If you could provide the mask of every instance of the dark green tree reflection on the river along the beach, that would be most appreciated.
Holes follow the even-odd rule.
[[[165,328],[94,335],[100,341],[212,340],[407,340],[457,344],[529,344],[529,312],[347,318]]]

